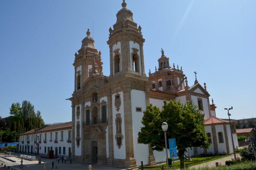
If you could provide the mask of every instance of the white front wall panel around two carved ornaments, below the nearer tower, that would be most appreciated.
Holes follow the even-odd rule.
[[[113,113],[113,143],[114,143],[114,158],[116,159],[125,159],[126,158],[126,154],[125,154],[125,118],[124,118],[124,95],[123,95],[123,91],[118,92],[118,94],[120,94],[120,99],[121,99],[121,106],[119,111],[116,111],[116,107],[115,107],[115,95],[112,95],[112,113]],[[124,136],[123,140],[122,140],[122,146],[120,147],[120,149],[117,147],[116,145],[116,139],[115,139],[115,134],[116,134],[116,123],[115,123],[115,119],[116,119],[116,114],[120,113],[121,114],[121,118],[122,118],[122,135]]]

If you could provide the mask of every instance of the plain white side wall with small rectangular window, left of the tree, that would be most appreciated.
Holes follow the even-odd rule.
[[[136,112],[136,107],[141,107],[142,112]],[[144,91],[131,90],[131,112],[132,112],[132,129],[133,129],[133,152],[136,164],[148,164],[148,145],[138,143],[138,133],[143,126],[141,123],[143,111],[146,109],[146,97]]]

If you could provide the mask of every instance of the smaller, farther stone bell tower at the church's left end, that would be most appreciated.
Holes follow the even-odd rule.
[[[75,53],[75,83],[74,93],[79,92],[82,84],[88,79],[89,72],[102,73],[101,52],[95,48],[94,39],[90,36],[90,30],[86,32],[87,36],[82,40],[82,47]]]

